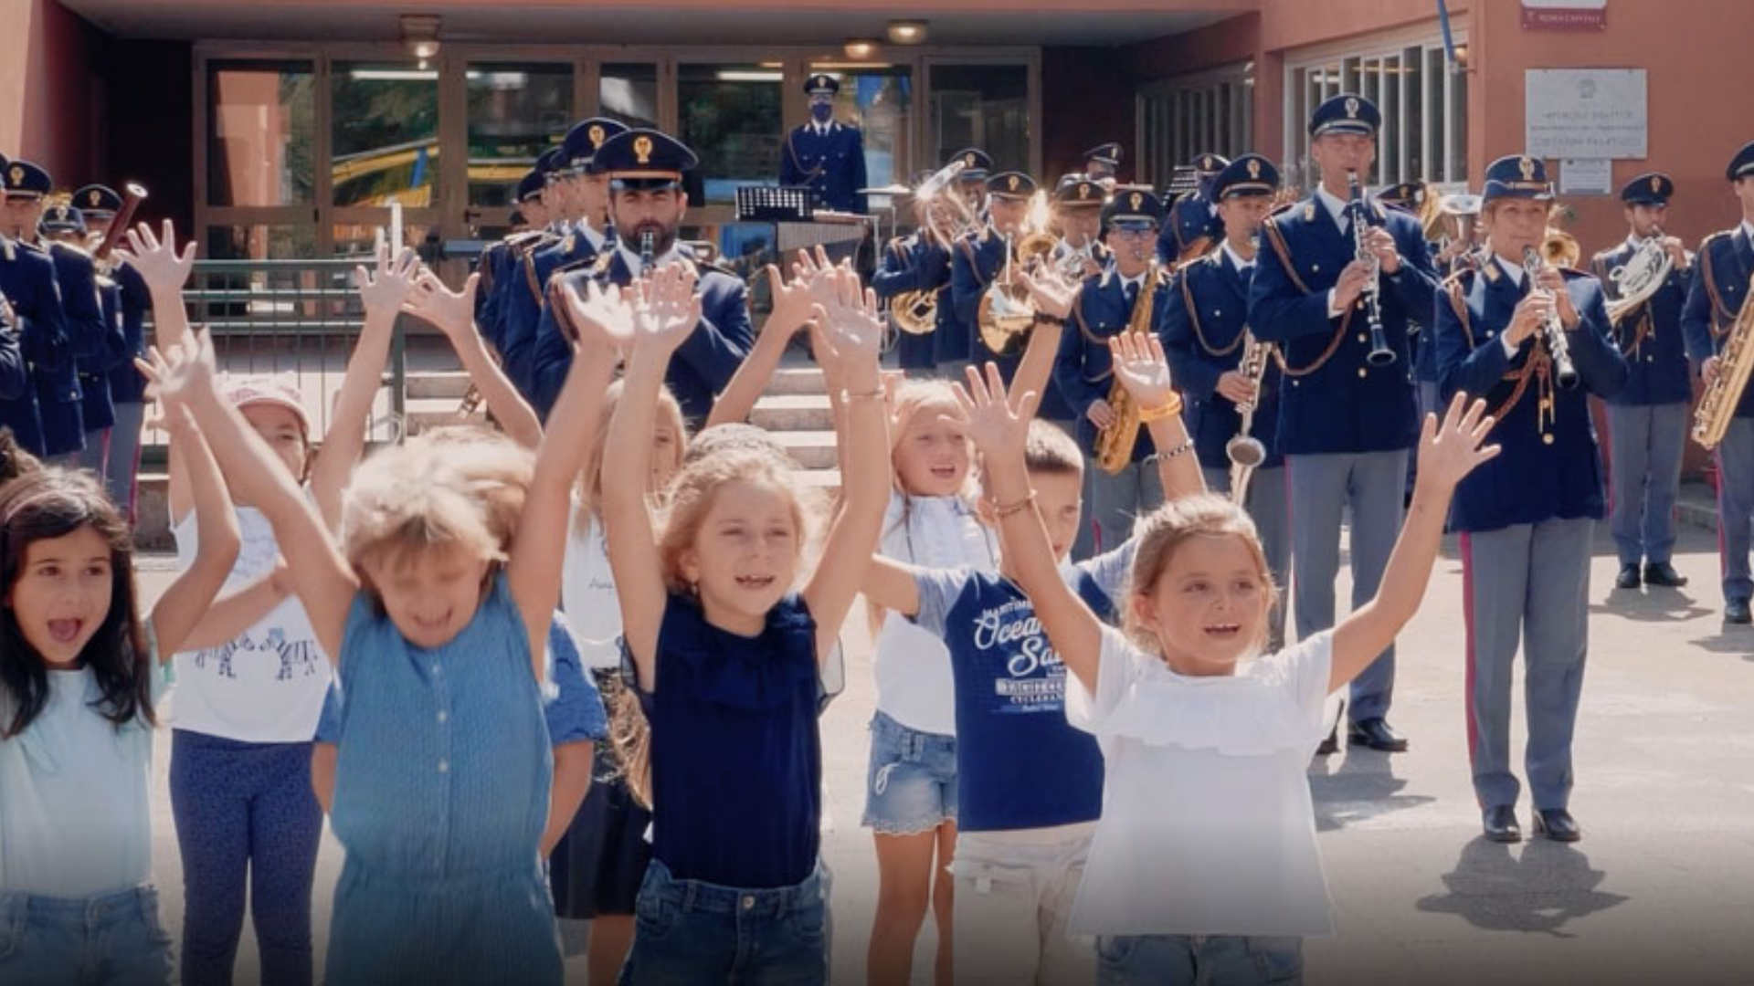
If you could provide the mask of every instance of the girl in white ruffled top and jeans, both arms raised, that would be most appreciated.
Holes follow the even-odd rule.
[[[973,374],[970,374],[973,377]],[[1333,932],[1305,767],[1323,698],[1419,609],[1456,482],[1493,458],[1493,419],[1465,395],[1428,416],[1419,479],[1377,597],[1335,630],[1261,656],[1275,589],[1247,514],[1217,497],[1142,518],[1128,632],[1058,575],[1023,442],[1033,402],[973,386],[970,435],[1009,563],[1072,681],[1066,719],[1103,749],[1102,821],[1072,911],[1098,935],[1098,981],[1296,982],[1301,935]]]

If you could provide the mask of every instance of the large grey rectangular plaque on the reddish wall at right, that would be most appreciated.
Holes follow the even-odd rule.
[[[1649,154],[1643,68],[1529,68],[1522,107],[1533,158]]]

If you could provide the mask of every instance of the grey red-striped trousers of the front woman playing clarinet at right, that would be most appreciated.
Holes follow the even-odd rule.
[[[1537,809],[1563,809],[1572,798],[1593,532],[1593,519],[1577,518],[1461,535],[1468,754],[1482,809],[1515,805],[1521,793],[1510,768],[1510,679],[1519,649],[1529,798]]]

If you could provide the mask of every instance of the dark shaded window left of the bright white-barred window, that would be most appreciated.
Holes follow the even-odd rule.
[[[1138,95],[1142,181],[1166,186],[1198,154],[1254,147],[1254,65],[1166,79]]]

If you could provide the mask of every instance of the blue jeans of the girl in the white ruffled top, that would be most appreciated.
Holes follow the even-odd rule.
[[[1303,939],[1114,935],[1096,940],[1100,986],[1303,982]]]

